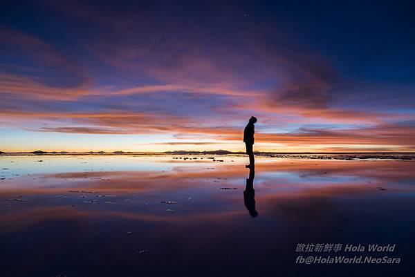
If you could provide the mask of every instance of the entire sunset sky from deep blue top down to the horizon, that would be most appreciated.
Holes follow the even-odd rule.
[[[415,151],[414,8],[4,1],[0,151]]]

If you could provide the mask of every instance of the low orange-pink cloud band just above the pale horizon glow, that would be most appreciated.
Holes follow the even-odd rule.
[[[197,135],[213,138],[212,142],[160,142],[165,145],[207,145],[219,142],[241,141],[241,128],[206,125],[189,117],[163,115],[160,113],[138,113],[132,111],[105,111],[95,113],[44,113],[2,111],[0,115],[13,122],[49,122],[49,126],[30,127],[32,131],[92,134],[156,134],[167,133],[184,138]],[[168,120],[166,120],[168,118]],[[69,123],[69,124],[68,124]],[[205,126],[203,126],[205,125]],[[264,133],[257,130],[257,143],[275,143],[286,146],[310,146],[333,144],[367,145],[373,148],[393,149],[398,146],[414,147],[415,125],[412,122],[376,124],[359,128],[299,128],[285,133]]]

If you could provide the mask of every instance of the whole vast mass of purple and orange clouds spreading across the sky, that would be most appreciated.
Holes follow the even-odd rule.
[[[64,22],[62,33],[0,27],[2,126],[161,133],[184,140],[165,145],[203,146],[197,140],[240,141],[256,115],[264,144],[414,146],[402,123],[414,120],[410,88],[356,82],[324,47],[284,24],[239,17],[237,4],[195,3],[192,13],[156,3],[39,5]]]

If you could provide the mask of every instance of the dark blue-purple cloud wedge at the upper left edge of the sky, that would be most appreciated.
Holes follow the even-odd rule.
[[[13,75],[24,79],[26,84],[31,80],[47,88],[78,88],[87,82],[86,70],[75,59],[39,37],[0,25],[0,44],[3,51],[0,74],[5,75],[0,79],[3,93],[12,88],[4,86],[4,81],[9,85],[16,81]]]

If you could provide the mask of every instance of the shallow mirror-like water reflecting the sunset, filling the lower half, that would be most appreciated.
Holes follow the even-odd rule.
[[[0,156],[0,275],[412,276],[413,160],[183,157]],[[401,262],[299,265],[369,255],[299,243]]]

